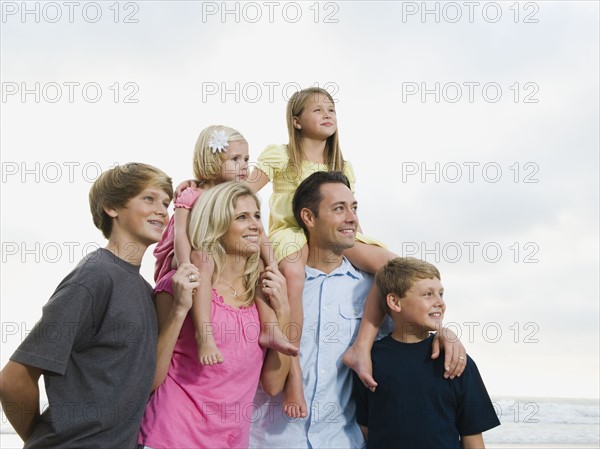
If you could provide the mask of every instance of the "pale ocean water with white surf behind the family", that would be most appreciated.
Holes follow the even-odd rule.
[[[484,433],[488,447],[600,447],[600,400],[492,398],[501,426]],[[0,448],[23,447],[6,417]]]

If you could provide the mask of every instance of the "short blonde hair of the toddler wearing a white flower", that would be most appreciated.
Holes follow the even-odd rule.
[[[204,128],[194,148],[194,177],[197,181],[210,181],[217,178],[221,174],[221,165],[225,160],[222,152],[213,152],[209,147],[209,142],[215,132],[224,132],[227,137],[227,142],[246,142],[242,134],[229,126],[212,125]]]

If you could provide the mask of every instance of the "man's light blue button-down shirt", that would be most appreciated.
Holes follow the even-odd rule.
[[[345,258],[329,274],[308,266],[305,272],[300,365],[308,417],[288,418],[283,412],[283,396],[269,397],[259,387],[250,447],[363,448],[352,376],[342,363],[342,354],[356,337],[373,279]]]

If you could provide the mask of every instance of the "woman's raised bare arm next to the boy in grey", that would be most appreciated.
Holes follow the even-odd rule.
[[[194,279],[193,282],[190,280],[190,276]],[[193,290],[200,286],[199,279],[198,269],[194,265],[183,264],[173,276],[175,299],[166,292],[161,292],[156,296],[158,348],[152,391],[156,390],[167,377],[177,337],[179,337],[183,321],[192,307]]]

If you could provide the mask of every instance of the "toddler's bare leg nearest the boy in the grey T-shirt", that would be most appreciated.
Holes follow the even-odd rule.
[[[196,329],[195,338],[198,361],[201,365],[222,363],[223,356],[217,347],[210,322],[212,307],[212,275],[214,261],[202,251],[192,251],[191,262],[200,272],[200,287],[194,293],[192,321]]]

